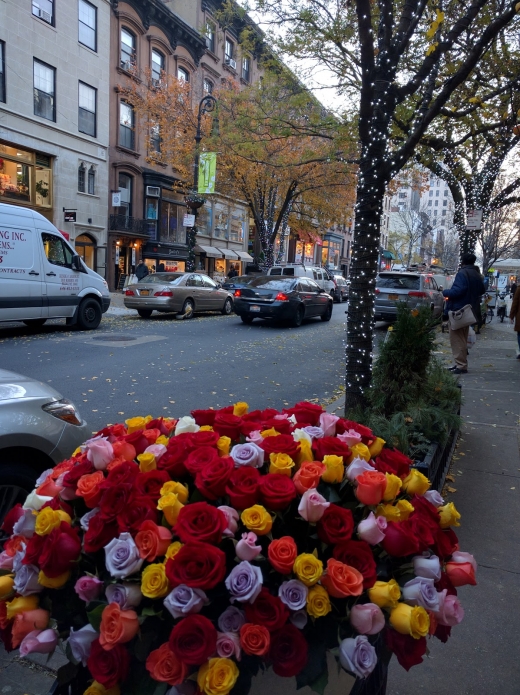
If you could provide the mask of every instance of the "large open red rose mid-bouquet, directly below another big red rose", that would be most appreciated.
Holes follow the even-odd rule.
[[[209,543],[190,541],[166,562],[172,587],[186,584],[193,589],[214,589],[226,576],[226,556]]]

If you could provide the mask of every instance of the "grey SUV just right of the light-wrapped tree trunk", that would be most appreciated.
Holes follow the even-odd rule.
[[[376,279],[375,320],[395,321],[397,303],[410,309],[429,306],[435,318],[442,316],[444,299],[431,274],[387,271]]]

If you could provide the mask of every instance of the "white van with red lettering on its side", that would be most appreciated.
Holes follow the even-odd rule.
[[[56,227],[34,210],[0,203],[0,321],[97,328],[110,306],[108,285]]]

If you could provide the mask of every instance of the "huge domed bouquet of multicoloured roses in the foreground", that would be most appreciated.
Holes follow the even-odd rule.
[[[247,693],[259,669],[410,668],[475,584],[452,503],[367,427],[312,403],[111,425],[6,517],[7,649],[57,646],[88,695]]]

